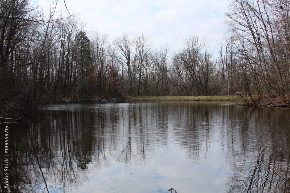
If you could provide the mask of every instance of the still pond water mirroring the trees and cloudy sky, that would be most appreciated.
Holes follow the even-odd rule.
[[[37,193],[288,192],[273,170],[290,177],[289,117],[212,102],[51,105],[9,125],[9,182]]]

